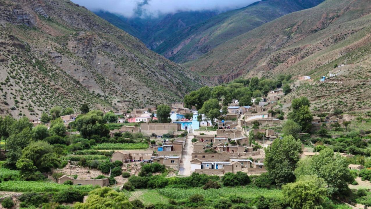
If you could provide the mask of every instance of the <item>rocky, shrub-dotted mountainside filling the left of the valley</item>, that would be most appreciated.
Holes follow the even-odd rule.
[[[127,110],[181,100],[203,83],[71,1],[0,2],[1,114],[84,102]]]

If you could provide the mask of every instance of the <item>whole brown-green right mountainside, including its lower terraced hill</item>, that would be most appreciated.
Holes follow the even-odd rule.
[[[311,97],[318,102],[317,109],[320,99],[321,106],[333,102],[332,106],[367,107],[371,93],[370,20],[368,0],[326,0],[220,44],[185,67],[218,83],[282,73],[296,78],[311,76],[314,83],[297,83],[292,95]],[[338,76],[319,82],[329,73]]]

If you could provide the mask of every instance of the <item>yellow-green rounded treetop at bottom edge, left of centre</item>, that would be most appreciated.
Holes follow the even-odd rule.
[[[114,208],[114,209],[133,209],[129,199],[123,192],[116,192],[107,187],[102,187],[89,192],[86,202],[76,203],[75,209],[91,208]]]

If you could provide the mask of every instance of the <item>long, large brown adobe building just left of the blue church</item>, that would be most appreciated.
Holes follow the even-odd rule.
[[[140,131],[145,135],[152,133],[162,136],[169,131],[177,132],[181,130],[181,124],[177,123],[142,123]]]

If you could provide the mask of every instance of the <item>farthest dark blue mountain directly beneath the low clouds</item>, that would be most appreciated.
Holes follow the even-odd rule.
[[[178,11],[158,17],[127,18],[108,11],[95,11],[95,14],[114,26],[142,40],[151,50],[155,50],[164,40],[174,38],[174,34],[193,24],[203,22],[218,14],[217,11]]]

